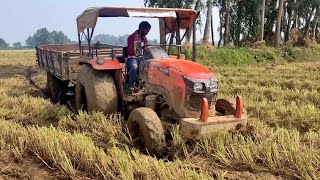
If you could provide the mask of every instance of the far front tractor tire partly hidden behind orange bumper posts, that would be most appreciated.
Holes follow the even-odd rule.
[[[223,115],[234,115],[236,112],[236,101],[231,99],[218,99],[216,102],[216,111]],[[242,116],[247,117],[245,108],[242,110]]]

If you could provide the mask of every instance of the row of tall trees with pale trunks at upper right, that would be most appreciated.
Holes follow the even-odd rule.
[[[303,44],[319,37],[320,0],[144,0],[148,7],[193,8],[201,11],[197,28],[203,30],[202,43],[214,45],[212,29],[217,31],[218,46],[246,46],[256,42],[278,46]],[[212,9],[219,10],[219,26],[212,27]],[[202,24],[204,23],[204,27]],[[160,22],[160,31],[164,25]],[[186,43],[190,43],[192,29]],[[165,36],[161,32],[161,42]],[[210,39],[211,36],[211,39]]]

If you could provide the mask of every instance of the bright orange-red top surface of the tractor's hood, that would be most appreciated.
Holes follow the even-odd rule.
[[[213,73],[200,64],[192,61],[180,60],[180,59],[154,59],[152,60],[156,64],[159,63],[161,68],[175,69],[183,74],[183,76],[194,79],[209,79],[213,77]]]

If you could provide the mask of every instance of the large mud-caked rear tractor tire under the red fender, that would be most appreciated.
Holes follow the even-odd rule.
[[[101,111],[112,114],[118,109],[118,94],[110,73],[94,70],[84,65],[78,75],[76,87],[76,108],[85,111]]]

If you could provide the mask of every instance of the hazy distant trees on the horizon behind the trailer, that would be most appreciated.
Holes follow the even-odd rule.
[[[93,37],[93,42],[100,41],[104,44],[126,46],[129,35],[113,36],[108,34],[98,34]],[[71,44],[78,43],[72,41],[62,31],[49,32],[47,28],[38,29],[32,36],[29,36],[25,41],[25,45],[21,42],[15,42],[12,46],[4,39],[0,38],[0,49],[23,49],[34,48],[38,44]],[[87,43],[87,42],[83,42]],[[158,44],[157,40],[149,41],[150,44]]]

